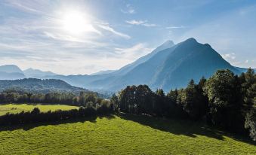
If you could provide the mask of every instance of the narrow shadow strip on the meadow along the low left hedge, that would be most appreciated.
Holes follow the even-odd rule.
[[[59,124],[78,123],[78,122],[85,123],[86,121],[89,121],[91,123],[96,123],[97,117],[99,118],[105,117],[109,120],[115,118],[113,114],[107,114],[107,115],[99,115],[99,116],[93,116],[93,117],[71,118],[68,120],[52,121],[52,122],[45,122],[45,123],[29,123],[29,124],[19,124],[19,125],[10,125],[10,126],[0,126],[0,132],[14,131],[17,129],[23,129],[27,131],[29,129],[33,129],[39,126],[59,125]]]

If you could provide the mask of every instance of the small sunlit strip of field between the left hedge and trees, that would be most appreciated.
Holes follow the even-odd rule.
[[[10,113],[18,113],[21,111],[32,111],[33,108],[38,107],[41,111],[56,111],[57,109],[61,110],[69,110],[73,108],[78,108],[76,106],[69,106],[69,105],[0,105],[0,116],[6,114],[7,112]]]

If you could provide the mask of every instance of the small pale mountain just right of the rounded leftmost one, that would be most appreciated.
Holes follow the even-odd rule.
[[[39,69],[33,69],[33,68],[28,68],[24,70],[23,73],[26,75],[26,78],[45,78],[48,76],[58,75],[51,71],[41,71]]]

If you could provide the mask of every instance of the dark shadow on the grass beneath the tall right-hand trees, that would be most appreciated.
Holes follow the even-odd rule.
[[[224,132],[221,129],[214,129],[200,121],[163,119],[161,117],[150,117],[146,115],[124,113],[119,114],[119,117],[125,120],[131,120],[140,123],[144,126],[150,126],[153,129],[158,129],[163,132],[170,132],[174,135],[186,135],[192,138],[196,138],[196,135],[204,135],[206,137],[215,138],[221,141],[224,140],[224,136],[227,136],[237,141],[256,145],[255,141],[252,141],[245,135],[236,135],[229,132]]]

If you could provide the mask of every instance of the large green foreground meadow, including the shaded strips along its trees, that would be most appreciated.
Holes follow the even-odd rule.
[[[248,138],[187,120],[121,114],[0,127],[0,154],[256,154]]]

